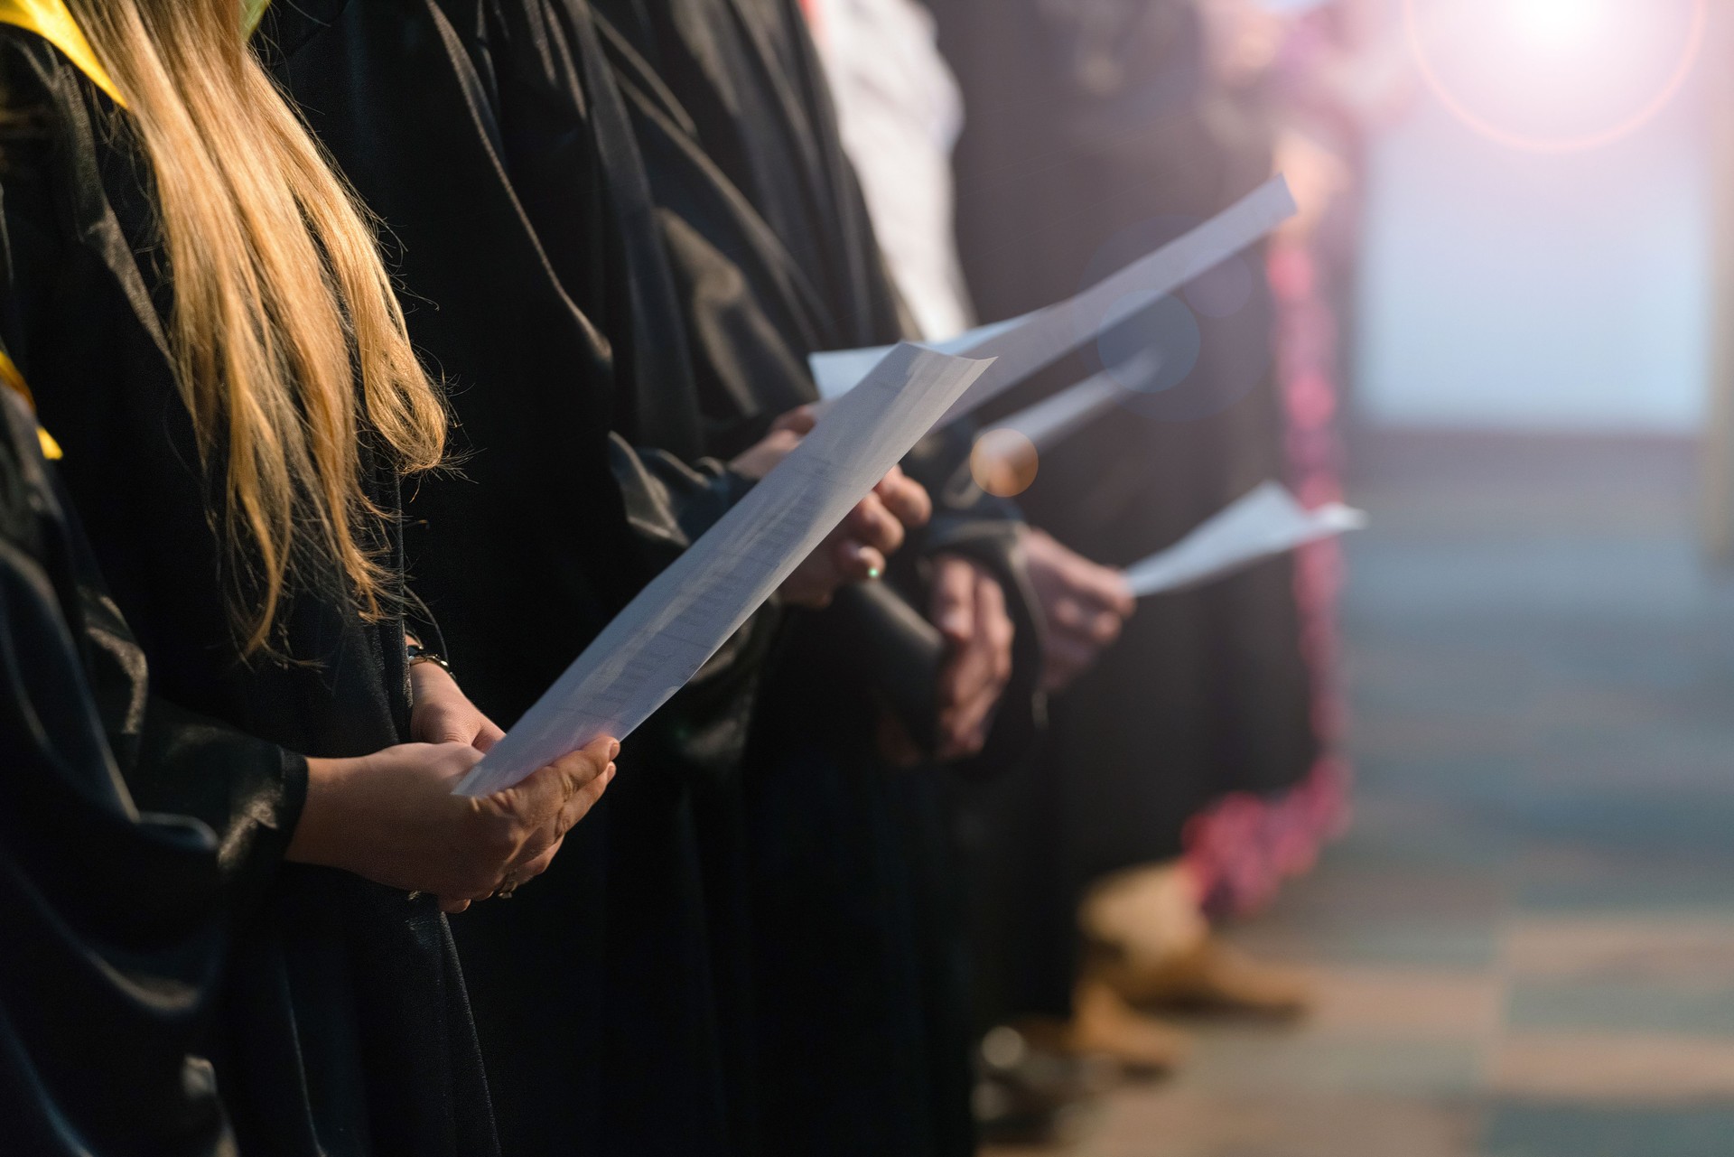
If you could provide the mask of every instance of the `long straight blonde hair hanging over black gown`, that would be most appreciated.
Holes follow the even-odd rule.
[[[175,380],[201,451],[225,456],[243,652],[271,649],[302,574],[335,569],[381,614],[392,583],[368,539],[387,513],[361,446],[428,470],[447,420],[366,210],[246,47],[238,0],[66,3],[154,175]]]

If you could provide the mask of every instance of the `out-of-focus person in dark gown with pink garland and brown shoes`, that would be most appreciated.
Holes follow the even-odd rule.
[[[1294,12],[1250,0],[933,9],[964,90],[957,227],[987,319],[1077,293],[1278,168],[1273,69]],[[1313,203],[1314,186],[1328,194],[1335,180],[1328,163],[1316,168],[1325,179],[1299,189]],[[1318,463],[1302,470],[1292,453],[1283,286],[1266,255],[1134,310],[1007,402],[1125,366],[1139,349],[1167,359],[1155,378],[1122,380],[1111,420],[1044,454],[1020,498],[1035,526],[1124,565],[1268,479],[1304,482],[1316,501]],[[1328,423],[1332,380],[1313,375],[1307,390],[1309,422]],[[1056,697],[1053,760],[980,800],[985,1015],[1046,1018],[1056,1027],[1033,1036],[1061,1049],[1165,1069],[1184,1041],[1138,1010],[1306,1006],[1297,977],[1229,951],[1210,918],[1268,897],[1340,820],[1316,569],[1276,559],[1139,607]]]

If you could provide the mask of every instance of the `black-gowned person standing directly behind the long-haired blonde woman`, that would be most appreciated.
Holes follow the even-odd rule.
[[[411,555],[466,689],[506,723],[770,453],[749,446],[766,422],[723,454],[733,468],[704,460],[676,401],[690,359],[661,241],[616,184],[631,142],[595,125],[600,49],[579,31],[525,0],[328,0],[281,5],[260,33],[401,246],[411,335],[453,385],[463,477],[418,486]],[[791,597],[883,565],[888,508],[858,515]],[[548,879],[460,921],[508,1152],[739,1143],[730,777],[773,623],[657,713]],[[499,640],[499,657],[468,659]]]

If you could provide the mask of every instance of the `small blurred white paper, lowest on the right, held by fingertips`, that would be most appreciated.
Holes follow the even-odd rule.
[[[1276,482],[1266,482],[1196,531],[1125,569],[1139,598],[1193,586],[1321,538],[1366,526],[1366,515],[1342,503],[1307,510]]]

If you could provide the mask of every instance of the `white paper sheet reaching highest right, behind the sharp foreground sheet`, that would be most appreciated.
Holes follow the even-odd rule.
[[[1120,272],[1099,281],[1068,302],[1033,314],[1002,321],[947,342],[947,352],[968,357],[994,357],[994,368],[976,378],[957,404],[940,420],[955,422],[999,397],[1037,369],[1065,357],[1094,340],[1103,328],[1129,316],[1127,305],[1153,302],[1174,293],[1200,274],[1216,269],[1235,253],[1254,245],[1295,213],[1288,182],[1271,177],[1247,198],[1183,238],[1141,257]],[[841,397],[860,380],[862,366],[870,366],[879,350],[838,350],[813,354],[808,368],[824,397]]]

